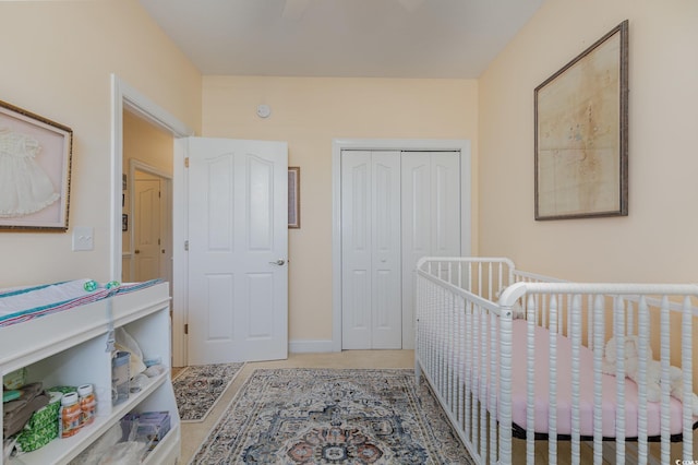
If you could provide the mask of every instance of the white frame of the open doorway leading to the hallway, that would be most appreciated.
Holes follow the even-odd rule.
[[[177,141],[181,138],[194,135],[194,131],[186,124],[181,122],[167,110],[155,104],[148,97],[136,91],[129,85],[125,81],[116,74],[111,74],[111,227],[110,227],[110,279],[121,279],[121,260],[122,260],[122,243],[121,243],[121,202],[122,202],[122,175],[123,175],[123,111],[128,110],[143,118],[153,126],[156,126],[164,131],[172,134],[174,138],[174,148],[177,148]],[[182,180],[182,174],[179,174],[183,167],[178,167],[177,164],[177,150],[173,153],[174,157],[174,176],[172,182],[172,205],[177,206],[177,196],[181,194],[179,183]],[[183,163],[183,160],[182,160]],[[183,243],[184,231],[178,230],[177,225],[177,208],[172,212],[172,243]],[[181,250],[180,250],[181,249]],[[179,295],[181,289],[186,286],[182,285],[181,277],[178,275],[178,257],[177,253],[183,254],[183,247],[173,247],[173,277],[172,277],[172,365],[174,367],[181,366],[186,360],[183,350],[184,345],[184,313],[183,302]]]

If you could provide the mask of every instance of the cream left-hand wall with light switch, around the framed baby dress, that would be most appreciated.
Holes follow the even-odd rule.
[[[191,128],[201,126],[201,74],[137,0],[0,2],[0,99],[73,130],[70,229],[0,233],[0,286],[110,270],[111,87],[116,73]],[[74,226],[95,249],[73,252]]]

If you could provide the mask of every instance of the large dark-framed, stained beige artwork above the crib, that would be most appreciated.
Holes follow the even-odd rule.
[[[628,214],[628,22],[534,91],[535,219]]]

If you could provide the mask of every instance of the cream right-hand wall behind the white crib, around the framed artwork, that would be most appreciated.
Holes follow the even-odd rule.
[[[629,20],[629,215],[533,219],[533,90]],[[698,2],[547,0],[480,84],[480,253],[579,281],[696,282]]]

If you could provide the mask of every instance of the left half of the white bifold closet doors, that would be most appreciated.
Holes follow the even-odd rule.
[[[401,347],[400,153],[342,158],[342,346]]]

